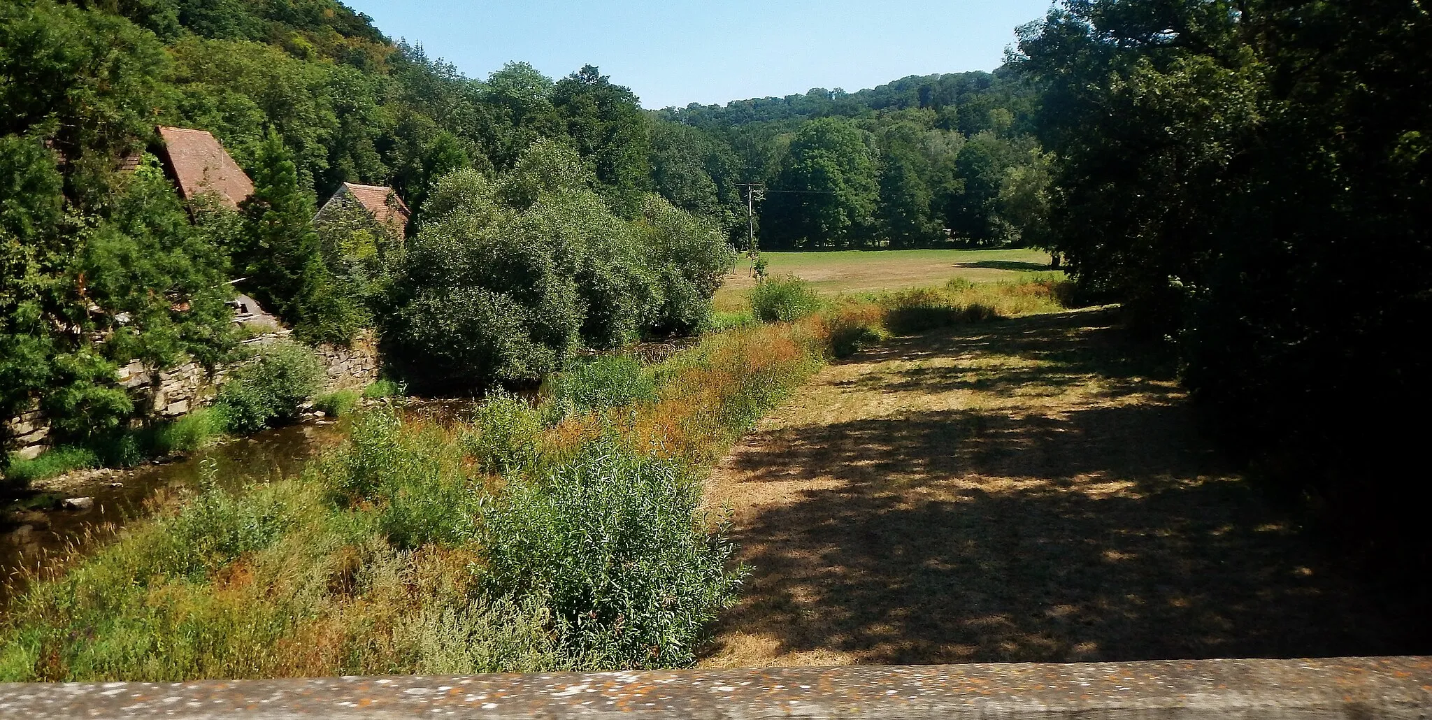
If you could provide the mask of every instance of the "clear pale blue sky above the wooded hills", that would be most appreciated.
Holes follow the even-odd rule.
[[[471,77],[526,60],[596,64],[646,107],[859,90],[909,74],[992,70],[1051,0],[348,0],[390,37]]]

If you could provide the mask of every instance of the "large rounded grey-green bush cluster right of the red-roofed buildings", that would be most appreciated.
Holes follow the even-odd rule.
[[[553,142],[495,180],[441,177],[378,313],[392,368],[428,392],[480,392],[541,379],[583,344],[700,331],[732,261],[720,230],[657,196],[629,222],[590,183]]]

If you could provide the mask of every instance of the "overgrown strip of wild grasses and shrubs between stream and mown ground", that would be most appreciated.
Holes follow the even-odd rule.
[[[537,402],[490,395],[458,422],[359,414],[296,477],[206,482],[29,578],[0,624],[0,680],[690,666],[745,573],[703,494],[725,449],[832,359],[1061,292],[821,299],[776,279],[750,298],[772,322],[654,365],[591,358]]]

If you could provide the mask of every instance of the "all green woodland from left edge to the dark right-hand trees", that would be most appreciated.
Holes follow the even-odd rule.
[[[39,397],[77,435],[133,412],[116,365],[232,349],[229,278],[305,339],[377,325],[404,358],[465,338],[447,348],[465,369],[412,379],[475,389],[699,329],[725,240],[745,243],[737,183],[768,183],[768,248],[1042,233],[1048,156],[1011,73],[653,113],[594,67],[464,77],[329,0],[26,0],[0,10],[0,414]],[[182,206],[153,162],[117,172],[158,125],[211,130],[248,170],[238,216]],[[342,182],[397,189],[405,248],[312,226]],[[444,306],[500,318],[450,326]]]

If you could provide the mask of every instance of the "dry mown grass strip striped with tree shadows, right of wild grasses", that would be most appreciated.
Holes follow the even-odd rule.
[[[1137,356],[1097,311],[825,369],[712,478],[752,574],[705,664],[1426,651]]]

